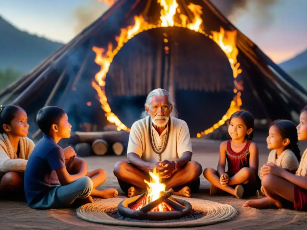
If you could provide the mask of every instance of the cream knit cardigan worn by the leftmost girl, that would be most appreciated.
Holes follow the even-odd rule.
[[[28,137],[21,137],[19,148],[19,157],[17,157],[9,137],[5,133],[0,133],[0,172],[25,171],[34,143]]]

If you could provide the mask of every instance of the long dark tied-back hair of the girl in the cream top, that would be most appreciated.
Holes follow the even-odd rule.
[[[286,149],[291,149],[296,156],[298,162],[301,160],[301,154],[300,149],[297,146],[297,130],[296,125],[289,120],[276,120],[273,121],[270,124],[271,128],[272,126],[275,126],[279,129],[280,136],[282,136],[282,139],[288,138],[290,140],[290,144],[286,146]]]

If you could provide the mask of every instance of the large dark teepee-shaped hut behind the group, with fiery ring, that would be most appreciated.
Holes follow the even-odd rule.
[[[219,128],[238,109],[295,120],[307,92],[208,0],[118,0],[68,44],[0,93],[23,107],[33,138],[45,105],[73,130],[127,130],[146,95],[168,90],[191,136]]]

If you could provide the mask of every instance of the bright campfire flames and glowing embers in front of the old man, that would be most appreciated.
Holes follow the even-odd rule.
[[[161,178],[159,177],[159,174],[154,168],[153,172],[149,172],[150,179],[152,182],[148,182],[144,180],[144,182],[148,185],[148,191],[147,193],[138,201],[136,202],[131,209],[134,210],[140,210],[144,206],[148,205],[152,201],[157,200],[162,193],[165,192],[165,184],[161,183]],[[174,209],[167,204],[165,201],[162,201],[159,205],[154,207],[150,210],[151,212],[165,212],[165,211],[174,211]]]

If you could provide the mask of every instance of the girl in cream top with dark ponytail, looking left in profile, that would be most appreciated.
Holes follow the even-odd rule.
[[[297,171],[301,159],[297,146],[297,130],[292,121],[274,121],[269,128],[269,136],[266,138],[267,148],[273,149],[268,157],[268,163],[276,164],[291,173]],[[260,173],[260,176],[262,174]],[[268,208],[272,207],[269,197],[248,200],[243,207]],[[274,206],[274,205],[273,205]]]

